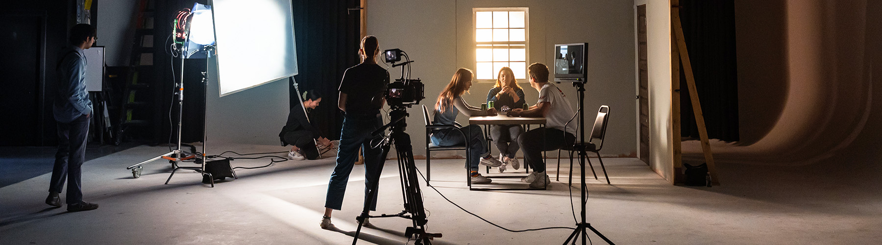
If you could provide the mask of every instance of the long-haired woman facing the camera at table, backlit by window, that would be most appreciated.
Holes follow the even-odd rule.
[[[524,107],[524,90],[520,89],[518,80],[514,79],[511,68],[503,67],[499,70],[497,84],[487,93],[487,101],[494,101],[493,108],[501,112]],[[518,137],[523,132],[524,128],[520,125],[490,125],[490,137],[496,142],[499,161],[502,161],[499,172],[505,172],[505,166],[510,164],[514,169],[520,168],[520,162],[514,154],[520,149]]]

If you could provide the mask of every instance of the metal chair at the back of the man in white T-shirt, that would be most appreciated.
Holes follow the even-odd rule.
[[[603,167],[603,159],[601,158],[601,149],[603,148],[603,139],[606,137],[606,127],[607,122],[609,120],[609,106],[603,105],[600,109],[597,110],[597,118],[594,119],[594,128],[591,130],[591,137],[588,137],[588,142],[585,145],[585,150],[588,152],[594,152],[597,154],[597,160],[601,162],[601,168],[603,169],[603,177],[607,179],[607,184],[609,184],[609,175],[606,173],[606,167]],[[576,137],[579,137],[578,135]],[[600,141],[600,144],[597,144],[597,141]],[[579,143],[578,141],[576,142]],[[570,152],[570,184],[572,185],[572,152],[575,152],[576,149],[573,145],[565,145],[561,149],[557,150],[557,176],[556,181],[560,181],[560,151],[569,151]],[[588,160],[588,167],[591,167],[591,174],[594,174],[594,180],[597,180],[597,174],[594,173],[594,166],[591,165],[591,160]]]

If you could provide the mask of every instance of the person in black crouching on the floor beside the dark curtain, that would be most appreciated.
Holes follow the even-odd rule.
[[[288,123],[281,128],[279,138],[281,145],[291,145],[291,151],[288,152],[288,159],[291,160],[316,160],[318,159],[318,147],[331,147],[331,141],[326,137],[321,137],[318,130],[314,127],[308,117],[304,113],[303,107],[314,109],[318,107],[318,103],[322,101],[322,96],[314,90],[303,93],[303,106],[295,103],[288,112]],[[316,143],[318,142],[318,145]]]

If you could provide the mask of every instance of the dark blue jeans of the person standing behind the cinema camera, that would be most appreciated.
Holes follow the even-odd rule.
[[[375,115],[357,115],[346,113],[343,118],[343,129],[340,132],[340,147],[337,152],[337,167],[333,168],[331,181],[328,183],[325,207],[340,210],[343,205],[343,197],[346,194],[346,184],[349,182],[349,174],[355,160],[358,159],[358,149],[364,153],[364,201],[368,200],[368,187],[373,180],[379,181],[380,168],[385,160],[382,159],[383,150],[380,147],[372,148],[370,145],[370,133],[383,126],[383,117]],[[377,191],[374,192],[370,210],[377,210]]]

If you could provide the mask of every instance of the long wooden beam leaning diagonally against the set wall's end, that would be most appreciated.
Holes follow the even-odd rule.
[[[680,10],[678,4],[671,7],[671,27],[675,33],[677,49],[679,49],[680,51],[680,62],[683,63],[683,71],[686,75],[686,85],[689,89],[689,98],[692,101],[692,112],[695,115],[695,123],[697,123],[699,126],[699,137],[701,137],[701,150],[705,153],[707,171],[711,174],[711,181],[714,182],[714,184],[720,184],[720,179],[717,176],[716,165],[714,164],[714,153],[711,152],[710,141],[707,138],[707,130],[705,128],[705,116],[701,112],[699,92],[695,88],[695,77],[692,76],[692,64],[689,61],[689,50],[686,49],[683,26],[680,25]],[[679,137],[679,135],[676,135],[674,137]]]

